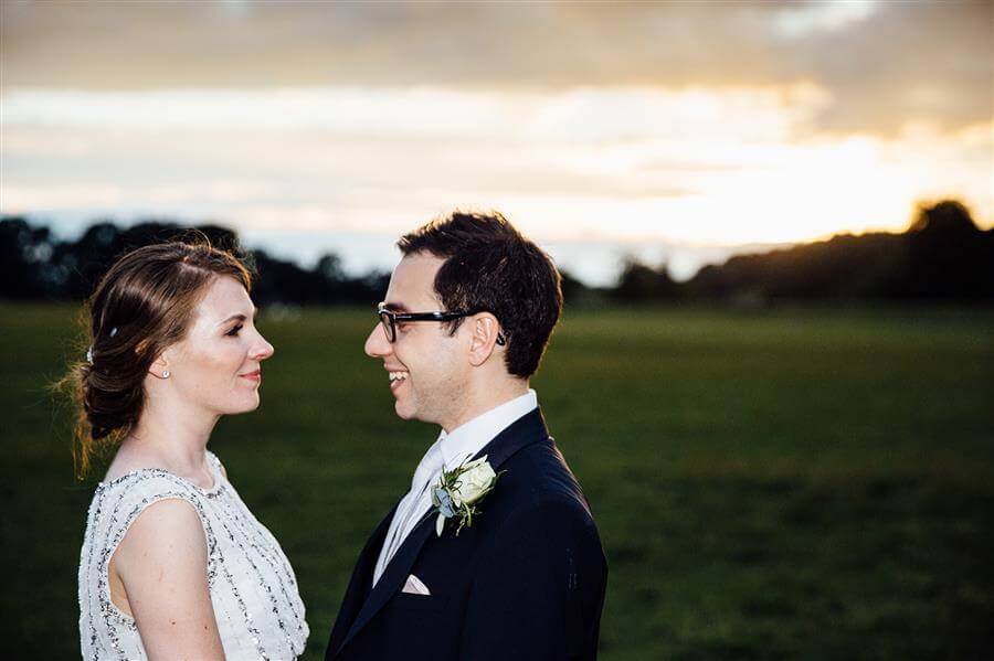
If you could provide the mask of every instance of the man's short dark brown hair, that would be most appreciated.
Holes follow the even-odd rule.
[[[401,237],[401,253],[445,259],[435,292],[446,310],[487,311],[507,340],[505,363],[515,376],[538,370],[562,310],[552,259],[499,213],[456,211]],[[462,319],[448,322],[454,333]]]

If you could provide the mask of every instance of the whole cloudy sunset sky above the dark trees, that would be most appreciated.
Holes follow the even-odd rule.
[[[361,269],[497,209],[590,280],[945,196],[987,227],[992,8],[2,0],[0,211],[214,220]]]

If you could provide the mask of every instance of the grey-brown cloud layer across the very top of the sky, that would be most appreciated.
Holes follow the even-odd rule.
[[[992,117],[994,6],[142,2],[0,6],[2,87],[807,85],[812,130]]]

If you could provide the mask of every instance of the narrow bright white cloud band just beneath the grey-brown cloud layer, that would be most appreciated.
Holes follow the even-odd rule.
[[[779,139],[825,104],[811,86],[537,92],[440,88],[13,90],[0,124],[142,130],[319,131],[563,141]]]

